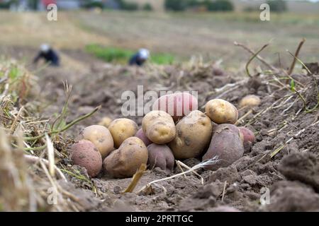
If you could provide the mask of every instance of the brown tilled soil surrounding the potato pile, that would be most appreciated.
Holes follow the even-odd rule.
[[[138,85],[143,85],[144,93],[148,90],[198,90],[200,110],[203,110],[206,101],[215,97],[228,100],[236,106],[245,95],[258,95],[262,100],[262,105],[254,108],[253,113],[241,124],[254,131],[256,143],[229,167],[216,171],[198,169],[203,184],[195,174],[186,174],[185,177],[157,183],[148,194],[121,194],[130,184],[130,178],[112,179],[101,172],[89,183],[67,175],[70,183],[63,186],[79,197],[83,210],[319,211],[319,124],[314,124],[318,121],[318,110],[304,112],[303,102],[296,100],[296,96],[281,102],[287,90],[269,85],[265,82],[269,79],[267,76],[242,78],[213,65],[135,68],[104,64],[83,52],[65,50],[63,54],[72,64],[65,63],[60,68],[47,67],[37,73],[43,90],[40,98],[50,103],[41,114],[50,117],[52,112],[60,111],[65,102],[62,83],[65,80],[72,84],[73,89],[69,120],[91,112],[98,105],[102,106],[94,116],[67,131],[65,141],[75,138],[85,126],[97,124],[102,117],[123,117],[121,94],[125,90],[137,93]],[[296,74],[293,78],[304,85],[313,83],[311,76],[306,74]],[[318,81],[318,76],[314,78]],[[228,91],[212,92],[230,83],[233,85],[228,87]],[[304,95],[311,108],[316,104],[313,98],[315,91],[311,89],[315,88],[314,83],[309,87]],[[247,111],[241,110],[240,116]],[[262,114],[258,115],[259,112]],[[129,118],[140,126],[142,117]],[[284,145],[287,141],[287,145]],[[274,157],[269,157],[281,145],[284,148]],[[58,151],[67,153],[67,145],[62,145]],[[200,160],[183,162],[191,167]],[[72,166],[68,159],[60,160],[59,164],[86,174],[85,169]],[[170,175],[178,172],[179,168],[175,167]],[[161,169],[147,170],[135,191],[148,182],[164,177],[167,177],[167,173]],[[260,203],[264,188],[270,191],[269,205]]]

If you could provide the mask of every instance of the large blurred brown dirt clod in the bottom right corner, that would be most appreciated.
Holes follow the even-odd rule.
[[[310,187],[298,182],[281,181],[272,186],[267,211],[319,211],[319,195]]]

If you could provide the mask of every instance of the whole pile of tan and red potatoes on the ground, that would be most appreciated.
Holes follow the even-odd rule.
[[[240,104],[250,107],[247,100]],[[99,125],[80,132],[70,149],[71,159],[75,165],[85,167],[90,177],[103,169],[115,178],[132,177],[143,163],[149,169],[159,167],[169,173],[175,160],[209,160],[217,156],[218,162],[207,168],[218,169],[240,159],[254,143],[254,133],[235,126],[236,107],[221,99],[208,101],[205,112],[196,110],[197,106],[194,96],[175,93],[155,101],[140,129],[131,119],[103,118]]]

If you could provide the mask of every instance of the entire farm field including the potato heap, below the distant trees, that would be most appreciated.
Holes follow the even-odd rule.
[[[319,14],[271,19],[0,11],[0,210],[318,211]],[[196,97],[124,114],[141,86]]]

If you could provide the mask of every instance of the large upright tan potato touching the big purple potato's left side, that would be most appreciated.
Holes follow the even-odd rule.
[[[176,125],[177,136],[169,147],[177,159],[198,157],[211,141],[211,119],[203,112],[194,111]]]

